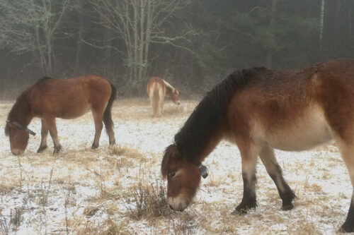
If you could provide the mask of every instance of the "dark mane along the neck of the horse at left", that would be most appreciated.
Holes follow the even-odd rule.
[[[21,121],[25,116],[23,114],[30,112],[30,104],[28,102],[28,94],[30,93],[33,88],[38,85],[42,85],[47,82],[47,80],[52,79],[49,77],[40,78],[34,85],[30,85],[27,89],[25,89],[21,95],[19,95],[16,99],[15,104],[11,108],[10,112],[8,113],[7,119],[8,121]],[[18,120],[21,119],[21,120]],[[5,135],[8,136],[10,133],[10,126],[6,123],[5,126]]]

